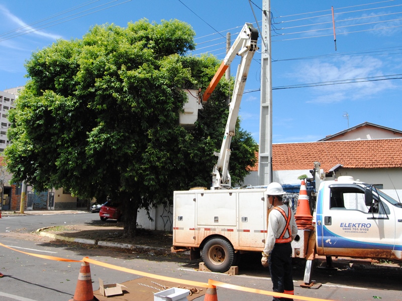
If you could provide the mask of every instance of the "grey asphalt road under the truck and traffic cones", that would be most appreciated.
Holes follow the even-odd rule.
[[[170,276],[180,279],[207,282],[214,279],[246,287],[271,290],[268,269],[259,264],[258,254],[243,256],[240,274],[199,272],[198,262],[189,262],[184,256],[154,256],[131,253],[123,250],[89,247],[64,242],[53,242],[45,237],[25,240],[5,236],[6,231],[32,232],[37,228],[53,225],[71,225],[91,222],[97,214],[63,214],[41,216],[13,216],[0,219],[0,242],[18,250],[51,255],[74,260],[84,256],[135,270]],[[13,233],[14,233],[13,232]],[[2,235],[3,234],[3,235]],[[401,300],[402,272],[396,268],[368,268],[369,266],[348,263],[338,264],[338,270],[314,268],[313,279],[323,283],[319,289],[295,286],[295,298],[309,296],[331,300]],[[0,300],[50,301],[68,300],[75,291],[80,263],[60,262],[22,254],[0,246]],[[134,274],[90,265],[93,289],[98,289],[98,277],[106,283],[125,282],[137,278]],[[304,266],[296,264],[294,280],[302,280]],[[204,297],[195,300],[203,300]],[[268,296],[218,288],[218,300],[269,300]]]

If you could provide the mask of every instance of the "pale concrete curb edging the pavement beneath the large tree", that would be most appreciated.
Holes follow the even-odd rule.
[[[64,241],[69,241],[69,242],[77,242],[77,243],[82,243],[82,244],[98,245],[98,246],[111,247],[111,248],[133,249],[133,250],[136,249],[136,250],[143,250],[143,251],[147,251],[147,252],[155,251],[158,254],[170,254],[171,253],[170,249],[159,248],[159,247],[150,247],[150,246],[134,245],[134,244],[129,244],[129,243],[110,242],[110,241],[102,241],[102,240],[96,242],[96,240],[94,240],[94,239],[66,237],[66,236],[62,236],[62,235],[58,235],[58,234],[42,232],[42,230],[45,230],[48,228],[52,228],[52,227],[40,228],[40,229],[36,230],[36,232],[38,232],[40,236],[46,236],[46,237],[50,237],[53,239],[64,240]]]

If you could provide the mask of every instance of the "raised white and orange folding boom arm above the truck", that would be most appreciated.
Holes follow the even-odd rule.
[[[235,87],[232,94],[232,100],[230,102],[229,116],[226,123],[221,152],[219,154],[215,153],[215,155],[218,156],[218,163],[214,166],[214,171],[212,173],[212,190],[220,189],[222,186],[231,186],[231,178],[229,174],[230,143],[232,141],[232,137],[235,135],[235,127],[237,117],[239,115],[240,102],[243,96],[244,87],[246,85],[251,60],[255,51],[258,50],[257,40],[258,31],[250,23],[246,23],[203,95],[203,100],[206,101],[217,86],[226,69],[232,63],[235,56],[241,56],[241,61],[237,68]]]

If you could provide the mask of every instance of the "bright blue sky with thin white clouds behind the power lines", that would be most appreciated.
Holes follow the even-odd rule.
[[[244,23],[261,25],[261,8],[262,0],[0,0],[0,90],[25,84],[32,52],[80,39],[95,24],[178,19],[196,33],[193,54],[223,59],[226,33],[233,41]],[[271,12],[273,143],[316,141],[348,122],[402,130],[402,0],[271,0]],[[240,110],[257,142],[260,59]],[[234,74],[236,61],[231,67]]]

